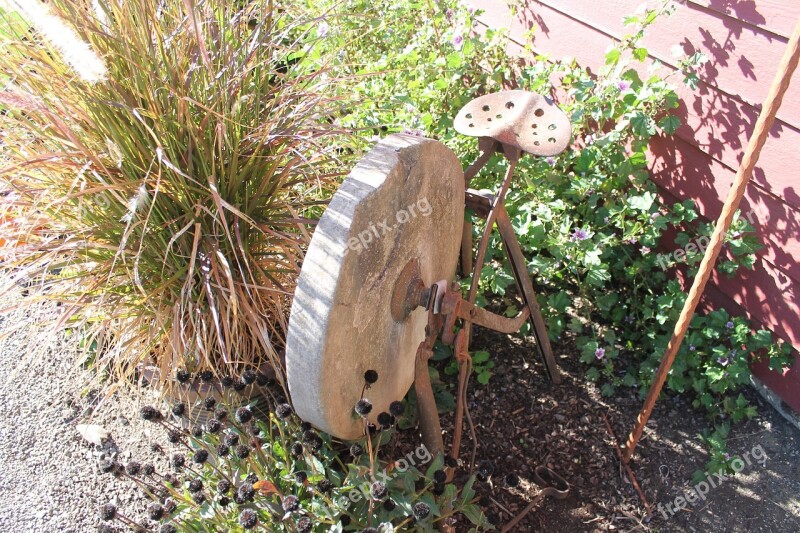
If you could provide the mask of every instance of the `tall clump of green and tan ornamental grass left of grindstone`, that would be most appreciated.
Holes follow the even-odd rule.
[[[4,266],[42,289],[28,301],[61,302],[117,379],[278,368],[306,217],[333,187],[314,20],[6,0],[0,24]]]

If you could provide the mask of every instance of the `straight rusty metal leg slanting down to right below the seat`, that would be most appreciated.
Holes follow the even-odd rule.
[[[539,309],[539,303],[536,301],[536,292],[533,290],[533,283],[528,274],[528,263],[522,253],[519,241],[517,241],[514,227],[511,225],[511,219],[508,217],[505,206],[498,206],[496,211],[495,223],[503,239],[511,269],[514,272],[514,278],[517,280],[517,287],[520,289],[525,305],[531,312],[530,321],[534,337],[536,337],[539,355],[542,358],[542,362],[544,362],[550,380],[555,384],[559,384],[561,383],[561,374],[553,356],[553,348],[550,346],[550,338],[547,336],[547,328],[545,327],[544,318],[542,318],[542,312]]]

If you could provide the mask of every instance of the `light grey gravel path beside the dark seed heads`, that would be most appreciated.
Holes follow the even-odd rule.
[[[0,309],[21,298],[13,290]],[[76,342],[44,329],[57,311],[37,304],[0,314],[0,532],[96,531],[98,507],[109,501],[143,516],[141,493],[100,474],[98,463],[131,454],[164,462],[150,450],[152,428],[138,417],[136,395],[114,395],[96,409],[92,375],[75,367]],[[110,432],[102,448],[78,433],[86,423]]]

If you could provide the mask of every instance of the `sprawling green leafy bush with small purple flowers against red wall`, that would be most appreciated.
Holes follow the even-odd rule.
[[[575,340],[587,376],[604,395],[619,387],[644,394],[685,300],[674,272],[694,275],[703,254],[698,243],[712,229],[698,220],[691,201],[664,202],[648,171],[653,137],[673,135],[681,125],[673,84],[696,86],[695,70],[706,60],[676,57],[679,69],[672,72],[649,58],[643,37],[674,4],[627,17],[627,31],[596,73],[536,55],[531,46],[529,61],[510,60],[503,33],[475,31],[476,14],[458,2],[314,5],[327,17],[323,46],[338,51],[326,65],[350,80],[342,87],[354,99],[337,118],[347,127],[374,135],[418,132],[469,162],[477,156],[474,140],[452,128],[467,101],[503,88],[558,101],[572,119],[572,146],[553,158],[522,158],[522,179],[510,189],[507,208],[553,340]],[[503,162],[492,162],[472,186],[494,189],[504,170]],[[748,218],[726,238],[718,263],[723,274],[752,268],[759,245],[752,232],[757,221]],[[660,253],[672,244],[670,235],[679,252]],[[513,277],[496,236],[487,259],[481,289],[508,307],[518,305],[507,294]],[[486,303],[483,295],[479,303]],[[749,360],[760,357],[775,368],[791,360],[789,347],[768,331],[711,310],[692,321],[667,386],[690,395],[715,420],[751,416],[739,391],[749,380]]]

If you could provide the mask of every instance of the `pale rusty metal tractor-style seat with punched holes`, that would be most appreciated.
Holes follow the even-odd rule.
[[[569,117],[550,98],[519,90],[468,102],[453,125],[464,135],[491,137],[538,156],[561,153],[572,137]]]

